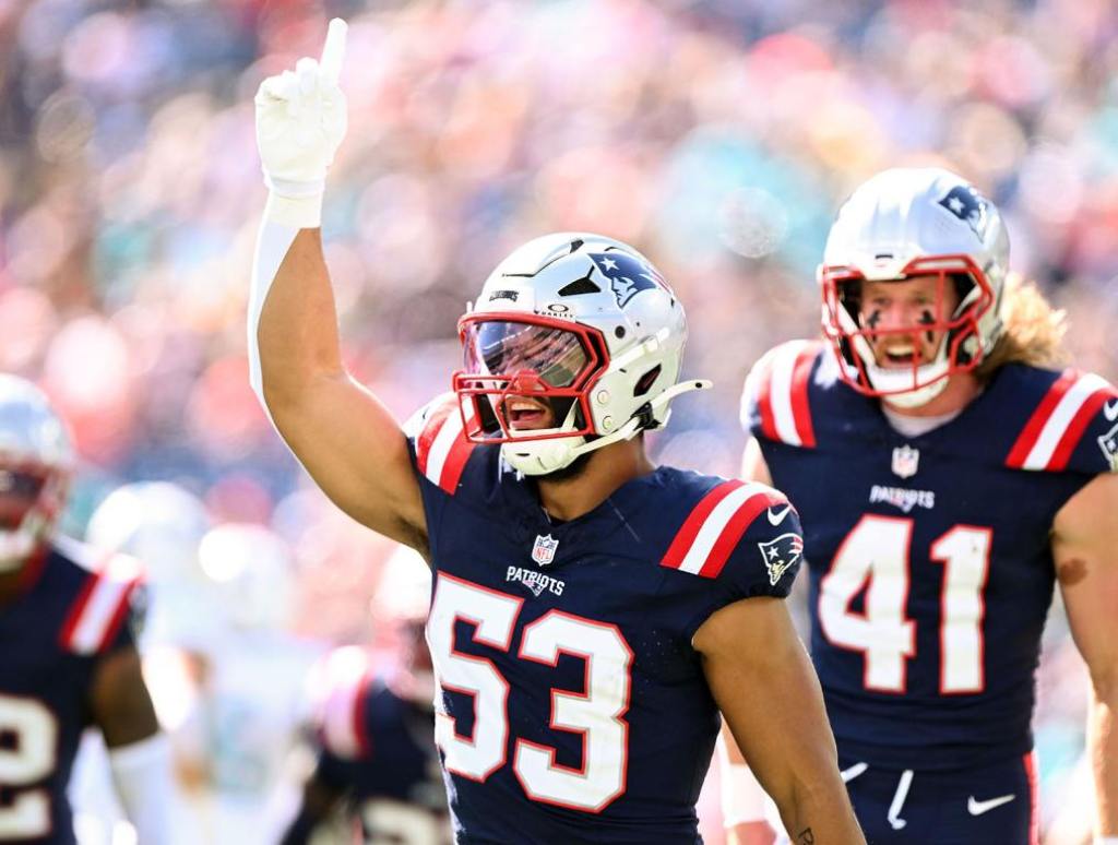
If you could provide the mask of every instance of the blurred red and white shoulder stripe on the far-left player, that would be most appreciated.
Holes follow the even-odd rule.
[[[123,556],[91,573],[63,625],[63,647],[77,654],[96,654],[108,647],[124,624],[129,599],[140,580],[139,562]]]

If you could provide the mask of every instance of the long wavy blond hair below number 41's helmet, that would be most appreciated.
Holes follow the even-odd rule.
[[[1063,335],[1068,331],[1067,312],[1052,307],[1035,282],[1025,282],[1011,273],[1002,294],[1002,320],[1005,331],[994,349],[975,369],[979,381],[988,381],[1007,363],[1059,368],[1068,362]]]

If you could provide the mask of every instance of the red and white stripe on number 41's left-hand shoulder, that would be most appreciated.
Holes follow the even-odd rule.
[[[818,351],[815,341],[785,343],[762,358],[750,373],[745,400],[757,403],[761,433],[768,439],[792,446],[815,446],[807,391]]]

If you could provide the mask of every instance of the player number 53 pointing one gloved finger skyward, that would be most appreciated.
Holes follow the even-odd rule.
[[[798,518],[645,454],[708,384],[680,381],[683,308],[639,253],[589,234],[517,249],[459,322],[454,392],[407,434],[343,368],[320,238],[343,39],[332,22],[321,63],[256,97],[252,382],[326,494],[430,562],[456,839],[698,842],[721,710],[799,842],[863,842],[781,601]]]

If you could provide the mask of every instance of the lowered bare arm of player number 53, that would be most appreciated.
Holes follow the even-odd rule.
[[[784,601],[751,598],[722,608],[695,633],[694,647],[792,842],[865,842],[839,776],[818,681]]]

